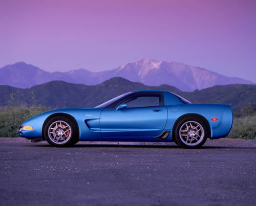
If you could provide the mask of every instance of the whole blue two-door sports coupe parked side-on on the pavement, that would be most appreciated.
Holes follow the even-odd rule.
[[[95,108],[47,111],[26,120],[19,136],[56,147],[78,141],[175,142],[198,148],[207,138],[226,136],[233,122],[230,105],[193,104],[161,90],[120,95]]]

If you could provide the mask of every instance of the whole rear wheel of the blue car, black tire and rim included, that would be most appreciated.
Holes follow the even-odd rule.
[[[209,131],[204,121],[198,117],[186,117],[175,128],[175,139],[183,148],[199,148],[207,137]]]

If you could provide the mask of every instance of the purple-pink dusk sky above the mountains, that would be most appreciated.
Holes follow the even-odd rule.
[[[256,82],[256,1],[0,0],[0,67],[177,61]]]

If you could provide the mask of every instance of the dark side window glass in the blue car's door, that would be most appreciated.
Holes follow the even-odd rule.
[[[160,94],[138,94],[124,100],[127,108],[162,106],[162,96]]]

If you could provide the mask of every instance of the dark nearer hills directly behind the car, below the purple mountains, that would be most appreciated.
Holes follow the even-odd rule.
[[[184,92],[166,84],[147,86],[115,77],[93,86],[64,81],[51,81],[26,89],[0,85],[0,106],[95,107],[127,91],[144,89],[173,91],[193,103],[230,104],[233,111],[256,104],[256,85],[251,84],[219,85]]]

